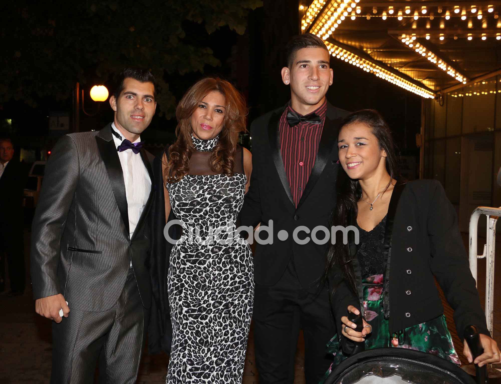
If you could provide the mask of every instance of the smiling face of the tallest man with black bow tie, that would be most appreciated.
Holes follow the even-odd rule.
[[[291,84],[294,110],[304,114],[322,105],[333,80],[329,60],[327,49],[302,48],[296,52],[291,67],[282,68],[282,80],[285,84]]]

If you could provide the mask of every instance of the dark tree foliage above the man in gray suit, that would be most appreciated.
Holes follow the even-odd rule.
[[[194,22],[209,34],[222,26],[243,34],[247,12],[262,5],[262,0],[9,1],[0,27],[0,102],[35,106],[44,97],[64,100],[77,81],[106,82],[121,68],[141,66],[158,79],[157,101],[171,117],[176,101],[166,79],[220,65],[210,47],[196,36],[186,38],[185,28]]]

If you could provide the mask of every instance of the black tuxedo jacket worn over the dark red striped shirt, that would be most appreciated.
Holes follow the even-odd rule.
[[[269,225],[273,220],[273,244],[258,243],[254,252],[257,283],[276,283],[293,257],[302,285],[315,289],[325,267],[326,245],[318,245],[311,240],[304,245],[298,244],[293,240],[293,232],[300,225],[311,231],[317,225],[328,224],[336,204],[336,175],[340,167],[338,130],[349,112],[327,103],[315,164],[296,208],[280,153],[279,120],[286,107],[257,118],[250,126],[253,171],[241,211],[241,223]],[[289,234],[285,241],[277,236],[282,229]],[[304,238],[305,233],[300,232],[299,237]]]

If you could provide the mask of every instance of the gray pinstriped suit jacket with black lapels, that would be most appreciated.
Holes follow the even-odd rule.
[[[63,293],[70,308],[104,311],[117,301],[132,261],[141,300],[151,303],[149,227],[153,156],[140,151],[151,192],[132,238],[127,199],[111,124],[67,134],[47,163],[32,224],[34,297]]]

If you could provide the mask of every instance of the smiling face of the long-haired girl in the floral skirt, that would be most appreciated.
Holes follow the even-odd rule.
[[[365,180],[386,167],[386,151],[364,123],[353,122],[341,128],[338,136],[339,162],[352,179]]]

